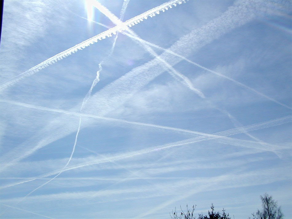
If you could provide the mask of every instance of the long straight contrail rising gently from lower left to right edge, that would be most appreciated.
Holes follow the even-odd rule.
[[[123,160],[123,159],[127,159],[127,158],[131,158],[134,156],[138,156],[138,155],[142,155],[142,154],[148,154],[151,152],[155,152],[155,151],[160,151],[160,150],[165,150],[171,147],[177,147],[177,146],[182,146],[182,145],[186,145],[186,144],[191,144],[191,143],[196,143],[196,142],[201,142],[201,141],[206,141],[206,140],[212,140],[212,139],[225,139],[225,137],[230,136],[230,135],[236,135],[236,134],[241,134],[242,133],[242,129],[246,130],[246,131],[255,131],[258,129],[263,129],[263,128],[268,128],[268,127],[273,127],[273,126],[278,126],[284,123],[290,123],[291,122],[291,116],[286,116],[286,117],[282,117],[279,119],[273,119],[267,122],[263,122],[263,123],[257,123],[257,124],[253,124],[253,125],[249,125],[249,126],[245,126],[245,127],[240,127],[240,128],[234,128],[234,129],[229,129],[226,131],[221,131],[221,132],[217,132],[214,133],[210,136],[199,136],[199,137],[195,137],[195,138],[191,138],[191,139],[186,139],[186,140],[182,140],[182,141],[178,141],[178,142],[174,142],[174,143],[169,143],[169,144],[164,144],[164,145],[160,145],[160,146],[155,146],[155,147],[149,147],[149,148],[145,148],[145,149],[141,149],[138,151],[131,151],[128,153],[123,153],[123,154],[117,154],[117,155],[113,155],[111,157],[107,157],[107,158],[99,158],[96,160],[91,160],[89,162],[83,162],[80,164],[76,164],[73,166],[70,166],[66,169],[61,169],[61,170],[56,170],[56,171],[52,171],[46,174],[42,174],[39,175],[37,177],[34,178],[30,178],[28,180],[24,180],[21,182],[16,182],[16,183],[12,183],[6,186],[2,186],[1,189],[3,188],[8,188],[11,186],[16,186],[25,182],[30,182],[30,181],[34,181],[38,178],[44,178],[44,177],[48,177],[48,176],[52,176],[55,174],[58,174],[60,172],[65,172],[65,171],[69,171],[69,170],[74,170],[77,168],[81,168],[81,167],[85,167],[85,166],[91,166],[94,164],[101,164],[101,163],[106,163],[109,162],[109,160],[111,161],[118,161],[118,160]],[[247,142],[251,142],[251,141],[247,141]],[[232,143],[233,144],[233,143]],[[243,146],[243,145],[240,145]],[[244,147],[249,147],[249,145],[245,145]],[[252,147],[252,146],[250,146]],[[254,147],[252,147],[254,148]],[[265,148],[258,148],[261,150],[266,150]],[[281,148],[283,149],[283,148]],[[272,150],[276,150],[275,148]]]

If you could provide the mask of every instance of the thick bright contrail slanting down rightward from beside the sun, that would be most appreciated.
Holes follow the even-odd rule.
[[[103,13],[105,16],[107,16],[114,24],[120,25],[122,23],[122,21],[119,18],[117,18],[114,14],[112,14],[112,12],[110,12],[105,6],[101,5],[100,2],[93,1],[92,4],[101,13]],[[140,39],[140,37],[131,29],[127,28],[126,31],[129,32],[132,36]],[[168,68],[167,71],[170,73],[171,76],[173,76],[175,79],[178,79],[179,81],[180,81],[179,78],[181,78],[189,89],[194,91],[201,98],[205,98],[204,94],[200,90],[194,88],[193,84],[186,76],[184,76],[182,73],[178,72],[171,65],[169,65],[168,62],[166,62],[164,59],[159,57],[158,54],[151,47],[149,47],[147,44],[144,44],[142,41],[139,41],[139,42],[142,44],[142,46],[144,46],[146,51],[148,51],[154,58],[157,58],[161,62],[162,65],[165,65],[165,67]],[[177,76],[179,78],[177,78]]]

